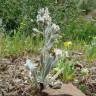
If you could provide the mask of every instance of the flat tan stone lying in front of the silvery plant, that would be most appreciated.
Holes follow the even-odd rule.
[[[61,89],[44,89],[41,96],[86,96],[72,84],[64,84]]]

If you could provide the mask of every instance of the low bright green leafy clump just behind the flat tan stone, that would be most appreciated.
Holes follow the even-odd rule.
[[[65,54],[66,56],[66,54]],[[54,68],[55,71],[60,71],[62,70],[61,74],[59,74],[61,80],[65,83],[68,83],[72,81],[75,77],[75,69],[74,69],[74,60],[69,60],[66,57],[61,57],[58,62],[56,67]]]

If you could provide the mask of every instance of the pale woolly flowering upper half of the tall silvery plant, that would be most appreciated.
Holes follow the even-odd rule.
[[[37,14],[37,23],[42,27],[41,32],[44,36],[44,47],[43,52],[48,51],[52,48],[54,40],[58,37],[60,30],[59,26],[52,22],[48,8],[42,8]],[[43,26],[42,26],[43,25]],[[35,32],[40,32],[35,28]]]

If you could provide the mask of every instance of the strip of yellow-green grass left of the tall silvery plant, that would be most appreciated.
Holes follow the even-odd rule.
[[[18,55],[24,51],[39,52],[41,46],[42,40],[38,36],[34,39],[33,36],[14,31],[12,37],[5,34],[0,38],[0,56]]]

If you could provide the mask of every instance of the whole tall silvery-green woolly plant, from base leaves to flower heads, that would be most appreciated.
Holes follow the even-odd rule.
[[[36,82],[45,83],[46,77],[56,63],[57,58],[49,51],[53,47],[55,39],[59,36],[59,26],[52,22],[48,8],[42,8],[38,11],[37,20],[38,28],[33,28],[34,33],[43,35],[43,48],[41,49],[41,62],[39,70],[32,71]],[[30,64],[33,64],[32,62]],[[25,64],[30,67],[30,64]],[[30,68],[29,68],[30,69]]]

